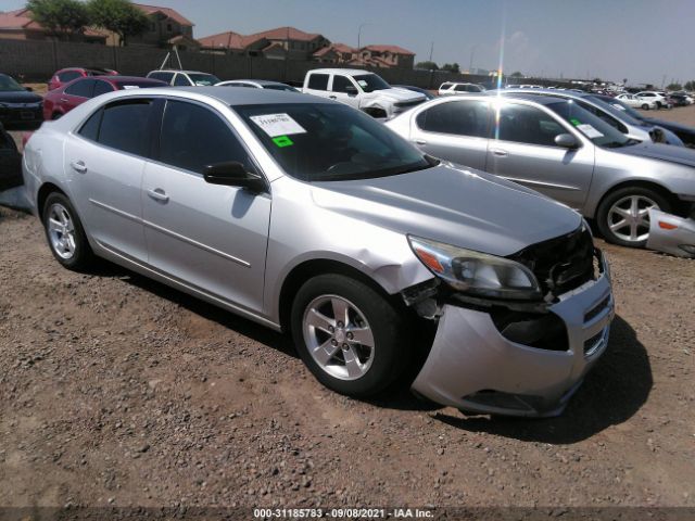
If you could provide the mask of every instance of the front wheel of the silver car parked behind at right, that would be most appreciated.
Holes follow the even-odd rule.
[[[626,187],[608,194],[598,205],[596,225],[614,244],[644,247],[649,237],[649,209],[671,212],[667,198],[643,187]]]

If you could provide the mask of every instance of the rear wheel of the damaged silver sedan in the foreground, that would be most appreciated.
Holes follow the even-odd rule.
[[[70,200],[53,192],[43,203],[43,229],[55,259],[67,269],[81,271],[93,260],[83,224]]]

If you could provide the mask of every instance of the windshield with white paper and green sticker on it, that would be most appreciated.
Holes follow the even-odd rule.
[[[435,164],[350,106],[286,103],[233,109],[282,169],[303,181],[394,176]]]

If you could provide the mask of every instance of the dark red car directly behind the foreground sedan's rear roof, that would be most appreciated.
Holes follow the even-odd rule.
[[[144,89],[148,87],[168,87],[159,79],[135,76],[91,76],[72,80],[43,98],[43,119],[58,119],[63,114],[99,94],[124,89]]]

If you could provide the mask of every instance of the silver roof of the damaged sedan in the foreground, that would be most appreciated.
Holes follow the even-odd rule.
[[[110,100],[131,96],[176,96],[191,100],[216,100],[226,105],[261,105],[275,103],[337,103],[326,98],[309,94],[298,94],[287,90],[270,89],[220,89],[219,87],[154,87],[142,92],[139,89],[121,90],[110,96]]]

